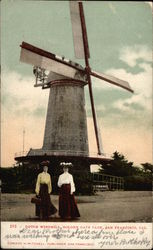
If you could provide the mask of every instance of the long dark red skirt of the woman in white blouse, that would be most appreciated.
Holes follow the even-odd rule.
[[[74,194],[70,194],[70,184],[63,184],[59,195],[59,215],[61,218],[80,217]]]

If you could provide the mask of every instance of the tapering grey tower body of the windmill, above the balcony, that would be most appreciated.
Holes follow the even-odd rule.
[[[50,86],[43,150],[88,155],[84,83],[58,79]]]

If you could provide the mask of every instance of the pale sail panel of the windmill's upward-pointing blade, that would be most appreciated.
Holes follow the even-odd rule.
[[[71,23],[72,23],[72,33],[73,33],[73,43],[74,43],[74,51],[75,56],[78,59],[84,59],[84,41],[83,41],[83,30],[81,24],[81,12],[80,12],[80,3],[77,1],[69,1],[70,4],[70,15],[71,15]],[[88,58],[89,55],[89,46],[88,39],[86,34],[86,46],[88,50]]]

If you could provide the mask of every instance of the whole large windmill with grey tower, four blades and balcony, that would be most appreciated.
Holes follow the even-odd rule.
[[[29,43],[21,44],[20,61],[33,65],[33,73],[36,77],[34,86],[50,89],[43,146],[41,149],[31,149],[26,157],[50,159],[57,156],[62,160],[64,157],[66,159],[79,157],[88,159],[90,163],[102,162],[110,159],[104,156],[101,147],[91,76],[127,91],[133,92],[133,90],[128,82],[91,69],[83,3],[70,1],[69,4],[75,56],[85,60],[85,67]],[[85,85],[88,85],[91,101],[97,144],[96,157],[89,156],[84,103]],[[15,159],[19,158],[17,156]]]

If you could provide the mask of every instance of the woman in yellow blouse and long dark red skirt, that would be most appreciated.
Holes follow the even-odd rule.
[[[52,191],[51,176],[47,173],[47,163],[43,163],[43,172],[38,174],[35,192],[41,198],[41,205],[36,205],[36,216],[41,219],[48,219],[50,215],[55,214],[57,209],[51,203],[50,193]]]

